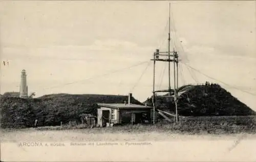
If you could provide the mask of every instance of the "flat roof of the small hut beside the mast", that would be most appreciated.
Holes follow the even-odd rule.
[[[153,109],[151,106],[128,103],[98,103],[99,106],[113,109]]]

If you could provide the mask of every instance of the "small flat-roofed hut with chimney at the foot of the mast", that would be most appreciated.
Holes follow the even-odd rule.
[[[100,127],[114,124],[137,124],[153,121],[153,107],[131,103],[132,94],[128,102],[124,103],[98,103],[97,125]]]

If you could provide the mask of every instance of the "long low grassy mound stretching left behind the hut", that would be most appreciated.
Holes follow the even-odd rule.
[[[71,120],[80,121],[80,115],[97,114],[97,103],[123,103],[127,96],[117,95],[72,95],[52,94],[38,98],[22,99],[17,97],[0,97],[2,128],[31,127],[35,119],[38,126],[55,126],[60,122],[66,124]],[[135,98],[132,103],[141,104]]]

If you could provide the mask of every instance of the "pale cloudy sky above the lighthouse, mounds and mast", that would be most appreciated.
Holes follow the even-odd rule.
[[[155,49],[168,49],[168,1],[0,3],[1,94],[19,91],[25,69],[36,97],[131,92],[144,101],[152,95],[150,59]],[[218,83],[256,111],[256,2],[170,6],[171,48],[182,60],[179,85]],[[167,64],[157,63],[157,89],[167,88],[167,77]]]

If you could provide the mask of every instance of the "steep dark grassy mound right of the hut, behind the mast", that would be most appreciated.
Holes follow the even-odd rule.
[[[175,113],[172,96],[156,97],[157,109]],[[178,113],[182,116],[247,116],[256,113],[218,84],[187,85],[179,88]],[[145,102],[152,105],[152,98]]]

